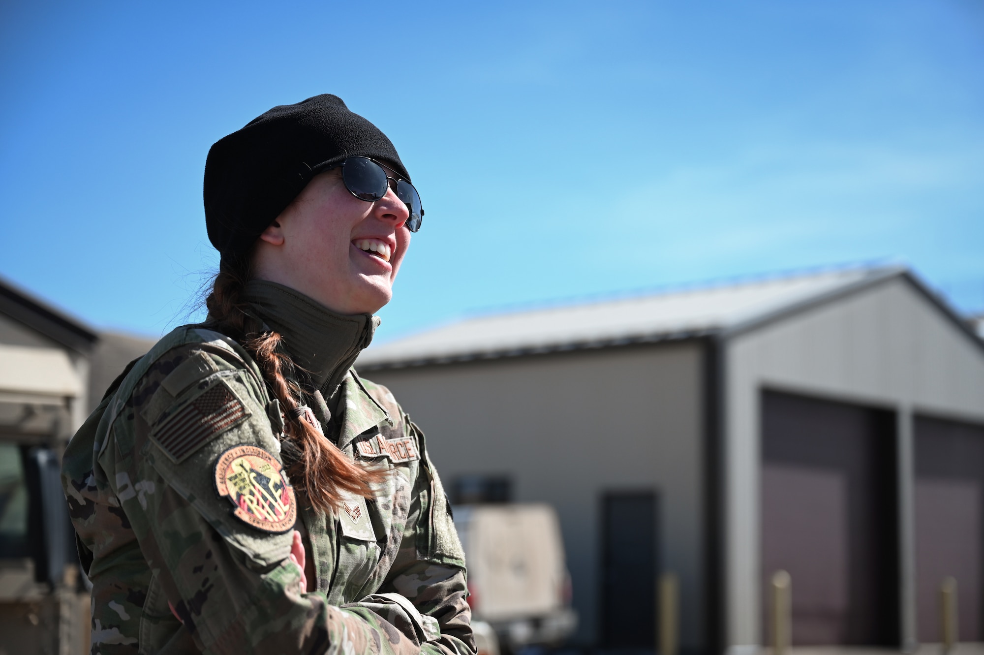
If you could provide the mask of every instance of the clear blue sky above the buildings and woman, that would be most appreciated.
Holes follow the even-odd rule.
[[[380,338],[489,308],[901,262],[984,310],[984,6],[0,4],[0,274],[156,335],[217,258],[209,147],[340,95],[427,216]]]

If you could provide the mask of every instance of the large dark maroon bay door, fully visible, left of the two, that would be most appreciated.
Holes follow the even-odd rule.
[[[765,391],[762,564],[792,576],[793,645],[899,642],[894,414]]]

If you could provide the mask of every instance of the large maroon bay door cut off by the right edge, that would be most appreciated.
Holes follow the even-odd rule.
[[[956,578],[960,641],[984,640],[984,428],[917,417],[917,638],[940,641],[938,594]]]

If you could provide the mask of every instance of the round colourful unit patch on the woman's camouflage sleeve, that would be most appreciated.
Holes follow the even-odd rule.
[[[215,490],[235,506],[232,513],[255,528],[284,532],[294,526],[294,490],[280,462],[261,447],[234,446],[215,462]]]

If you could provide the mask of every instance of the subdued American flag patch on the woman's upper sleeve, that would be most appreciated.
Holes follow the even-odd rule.
[[[163,419],[151,433],[154,442],[175,462],[250,415],[225,383],[218,382]]]

